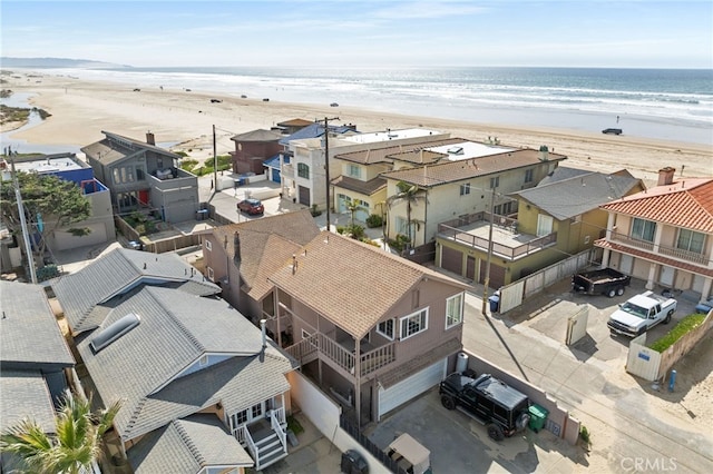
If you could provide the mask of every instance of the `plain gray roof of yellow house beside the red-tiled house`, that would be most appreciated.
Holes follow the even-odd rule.
[[[558,220],[585,214],[626,196],[641,180],[626,176],[588,172],[512,192]]]

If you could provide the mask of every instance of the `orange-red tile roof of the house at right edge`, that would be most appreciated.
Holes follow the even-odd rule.
[[[713,233],[713,178],[682,179],[600,207],[675,227]]]

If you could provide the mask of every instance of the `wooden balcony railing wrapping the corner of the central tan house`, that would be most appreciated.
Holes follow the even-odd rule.
[[[361,375],[371,374],[382,367],[388,366],[397,359],[395,342],[379,346],[360,355]],[[350,374],[354,375],[354,353],[329,337],[326,334],[316,333],[300,340],[285,349],[292,357],[305,364],[316,358],[318,352],[336,363]]]

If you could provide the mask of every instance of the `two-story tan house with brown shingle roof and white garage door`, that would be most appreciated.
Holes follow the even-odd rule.
[[[285,350],[354,422],[379,421],[455,367],[465,284],[325,230],[268,280]]]

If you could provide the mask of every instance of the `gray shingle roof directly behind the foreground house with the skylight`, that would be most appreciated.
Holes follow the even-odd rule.
[[[96,305],[127,293],[139,285],[167,285],[184,292],[209,296],[221,288],[205,280],[188,263],[175,254],[150,254],[117,248],[82,269],[52,284],[72,333],[94,329],[105,315],[92,314]]]

